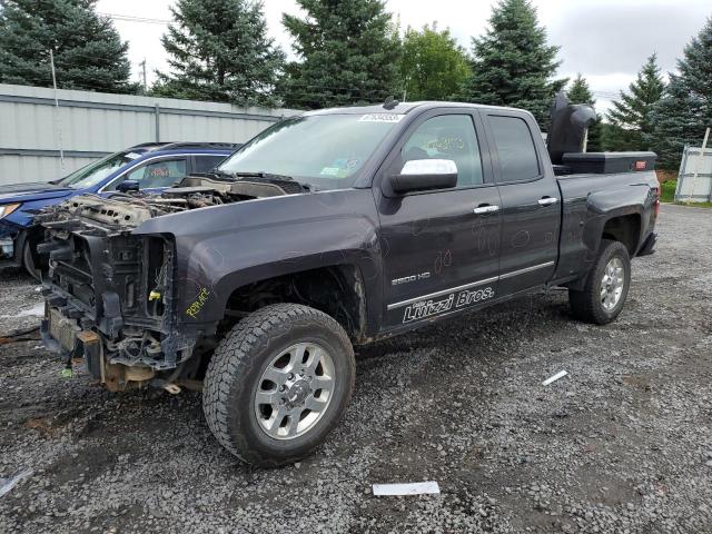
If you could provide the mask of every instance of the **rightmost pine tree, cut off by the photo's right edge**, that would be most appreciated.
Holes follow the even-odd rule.
[[[700,146],[712,127],[712,18],[685,47],[679,75],[670,75],[663,98],[653,107],[653,131],[644,136],[657,152],[659,166],[674,170],[685,145]]]

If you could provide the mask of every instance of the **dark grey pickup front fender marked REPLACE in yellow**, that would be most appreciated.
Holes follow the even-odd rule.
[[[368,323],[380,309],[377,214],[368,189],[290,195],[159,217],[135,234],[171,234],[177,320],[209,329],[248,284],[326,266],[356,266]]]

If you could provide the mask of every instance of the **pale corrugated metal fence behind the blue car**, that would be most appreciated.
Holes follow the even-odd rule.
[[[63,89],[55,95],[52,89],[0,83],[0,188],[56,179],[140,142],[244,142],[298,113]]]

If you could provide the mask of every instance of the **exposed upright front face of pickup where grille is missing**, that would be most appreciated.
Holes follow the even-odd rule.
[[[60,352],[77,352],[78,333],[90,330],[111,364],[169,369],[190,355],[195,336],[174,325],[170,238],[66,220],[43,226],[38,251],[49,265],[42,273],[46,330]]]

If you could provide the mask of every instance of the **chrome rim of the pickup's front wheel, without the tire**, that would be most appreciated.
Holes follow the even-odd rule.
[[[316,343],[297,343],[275,356],[255,393],[259,427],[274,439],[309,432],[326,413],[336,376],[330,354]]]

